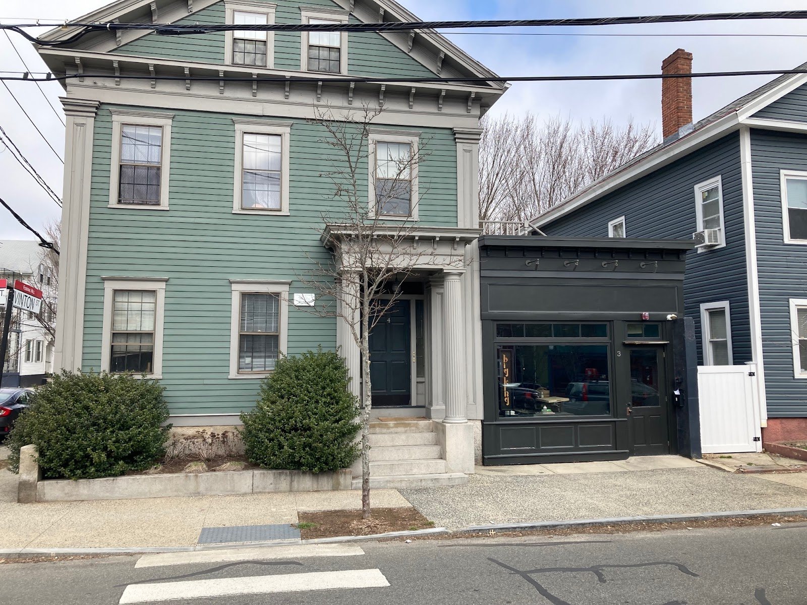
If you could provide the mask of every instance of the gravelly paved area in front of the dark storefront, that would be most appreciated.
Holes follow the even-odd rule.
[[[471,475],[401,490],[437,527],[807,507],[807,490],[707,467],[538,476]]]

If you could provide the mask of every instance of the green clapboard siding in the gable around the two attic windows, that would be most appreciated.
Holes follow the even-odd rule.
[[[275,23],[300,23],[300,6],[341,8],[332,0],[275,0]],[[176,23],[224,24],[224,2],[199,10]],[[361,23],[351,15],[350,23]],[[201,35],[147,34],[123,44],[112,52],[202,63],[224,63],[224,32]],[[299,32],[278,31],[274,35],[274,68],[299,71],[301,41]],[[421,65],[383,35],[366,32],[349,34],[348,73],[365,77],[433,77],[435,73]]]

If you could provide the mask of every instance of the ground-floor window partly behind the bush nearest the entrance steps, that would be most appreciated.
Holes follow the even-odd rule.
[[[262,378],[286,351],[290,282],[232,284],[230,378]]]

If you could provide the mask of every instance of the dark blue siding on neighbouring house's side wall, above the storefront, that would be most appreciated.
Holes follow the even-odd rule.
[[[541,230],[548,236],[608,237],[608,222],[625,215],[630,238],[692,239],[697,225],[694,187],[718,175],[723,182],[727,245],[700,254],[694,250],[688,253],[684,306],[696,322],[698,359],[702,363],[700,304],[728,300],[734,364],[742,364],[751,361],[751,331],[737,134],[709,144]]]

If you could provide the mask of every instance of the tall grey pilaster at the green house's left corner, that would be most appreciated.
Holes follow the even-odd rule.
[[[67,117],[54,369],[82,367],[93,131],[99,103],[63,98]]]

